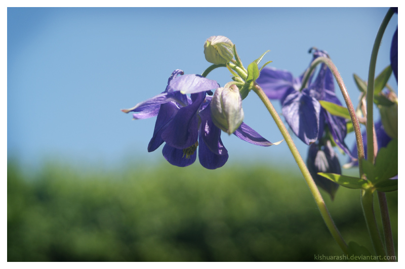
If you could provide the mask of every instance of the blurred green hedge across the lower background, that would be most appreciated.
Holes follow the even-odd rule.
[[[296,167],[8,162],[8,261],[314,261],[343,254]],[[346,242],[373,250],[357,190],[322,192]],[[387,193],[397,249],[397,192]],[[377,219],[378,203],[375,204]]]

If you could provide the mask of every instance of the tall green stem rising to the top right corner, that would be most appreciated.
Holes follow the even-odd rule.
[[[380,28],[378,29],[376,40],[374,41],[373,51],[371,53],[369,80],[367,83],[367,160],[374,164],[374,140],[373,140],[373,106],[374,106],[374,76],[376,72],[377,54],[380,48],[381,40],[388,22],[394,12],[389,9],[385,15]]]

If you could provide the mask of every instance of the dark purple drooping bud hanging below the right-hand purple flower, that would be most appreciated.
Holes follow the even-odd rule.
[[[307,167],[315,184],[328,192],[333,200],[335,198],[336,191],[339,188],[339,184],[317,174],[319,172],[336,174],[342,173],[338,156],[333,150],[332,144],[329,140],[326,141],[325,145],[320,142],[315,142],[309,146]]]

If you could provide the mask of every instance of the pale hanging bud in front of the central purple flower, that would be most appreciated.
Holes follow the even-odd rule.
[[[211,117],[218,128],[231,135],[242,124],[244,111],[238,87],[228,84],[215,90],[211,100]]]

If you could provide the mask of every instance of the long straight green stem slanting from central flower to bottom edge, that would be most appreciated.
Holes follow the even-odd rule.
[[[301,155],[298,152],[298,150],[293,142],[293,139],[291,138],[286,126],[284,125],[284,123],[282,123],[282,120],[278,116],[277,112],[275,111],[270,100],[267,98],[266,94],[263,92],[262,88],[259,85],[255,84],[253,91],[259,96],[259,98],[262,100],[263,104],[266,106],[267,110],[270,112],[270,115],[273,117],[275,123],[277,124],[277,127],[281,131],[282,136],[286,140],[286,143],[287,143],[288,147],[290,148],[290,151],[293,154],[294,159],[297,162],[302,175],[305,178],[305,181],[309,187],[309,190],[312,193],[312,196],[315,199],[316,205],[319,208],[320,214],[321,214],[323,220],[325,221],[326,226],[328,227],[329,231],[331,232],[333,238],[336,240],[336,242],[338,243],[340,248],[343,250],[343,252],[345,254],[347,254],[348,253],[347,245],[346,245],[343,237],[340,235],[339,230],[335,226],[335,223],[328,211],[328,208],[326,207],[326,204],[323,201],[323,198],[320,195],[319,190],[316,187],[315,182],[313,181],[313,178],[312,178],[311,174],[309,173],[308,168],[305,165],[305,162],[301,158]]]

